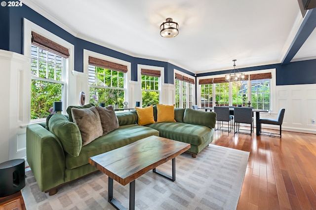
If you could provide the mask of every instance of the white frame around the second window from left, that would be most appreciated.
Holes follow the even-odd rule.
[[[93,51],[90,51],[90,50],[86,50],[84,49],[83,50],[83,73],[85,73],[87,75],[87,89],[88,89],[88,94],[86,94],[86,96],[88,96],[89,98],[89,90],[90,90],[90,84],[89,84],[89,81],[88,81],[88,73],[89,73],[89,56],[91,57],[94,57],[94,58],[99,58],[99,59],[102,59],[102,60],[105,60],[105,61],[110,61],[110,62],[113,62],[113,63],[117,63],[117,64],[121,64],[121,65],[124,65],[124,66],[127,66],[127,72],[124,73],[124,101],[128,101],[128,95],[129,95],[129,82],[130,81],[130,71],[131,71],[131,64],[130,62],[127,62],[127,61],[123,61],[123,60],[120,60],[120,59],[117,59],[117,58],[113,58],[113,57],[110,57],[110,56],[107,56],[107,55],[103,55],[103,54],[100,54],[100,53],[97,53],[97,52],[93,52]],[[92,85],[93,87],[97,87],[97,88],[104,88],[102,86],[95,86],[95,85]],[[115,87],[111,87],[111,89],[116,89]]]

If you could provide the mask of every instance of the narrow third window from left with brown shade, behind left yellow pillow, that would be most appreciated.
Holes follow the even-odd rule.
[[[142,79],[142,106],[159,104],[159,70],[141,69]]]

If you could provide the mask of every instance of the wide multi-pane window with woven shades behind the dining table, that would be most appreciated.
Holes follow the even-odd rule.
[[[250,101],[254,109],[270,109],[272,73],[245,75],[245,80],[225,82],[225,77],[200,79],[201,107],[215,105],[247,106]],[[250,80],[250,81],[249,81]],[[215,93],[212,92],[215,89]],[[230,97],[229,92],[232,92]],[[212,100],[215,97],[215,101]],[[251,98],[251,100],[249,100]]]

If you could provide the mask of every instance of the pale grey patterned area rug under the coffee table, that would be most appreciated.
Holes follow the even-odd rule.
[[[184,153],[176,158],[176,180],[152,171],[135,182],[138,210],[235,210],[240,196],[249,152],[210,144],[197,158]],[[171,174],[171,161],[158,170]],[[26,172],[22,196],[27,210],[114,210],[108,203],[108,176],[101,172],[61,187],[57,194],[43,193]],[[129,184],[114,181],[114,198],[128,208]]]

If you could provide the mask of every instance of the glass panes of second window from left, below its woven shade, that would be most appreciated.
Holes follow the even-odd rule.
[[[123,108],[125,73],[89,65],[89,102],[95,105],[105,103]]]

